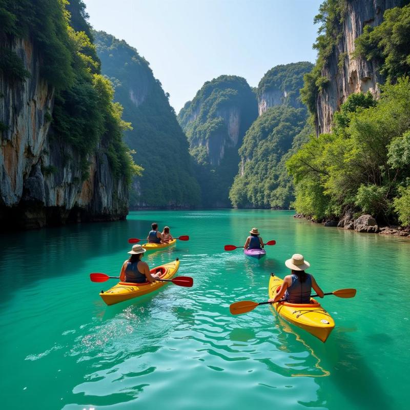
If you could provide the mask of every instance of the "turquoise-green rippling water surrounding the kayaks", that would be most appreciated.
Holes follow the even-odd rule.
[[[106,306],[90,272],[118,275],[129,237],[167,224],[189,242],[146,255],[180,258],[193,288]],[[277,244],[246,260],[256,226]],[[410,240],[324,228],[285,211],[133,212],[127,221],[0,237],[2,408],[398,409],[410,385]],[[302,253],[336,328],[325,344],[267,305],[231,316],[238,300],[268,299],[270,272]],[[400,304],[394,301],[399,300]]]

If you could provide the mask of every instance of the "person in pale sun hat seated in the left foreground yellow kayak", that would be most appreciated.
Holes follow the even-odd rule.
[[[160,273],[152,275],[148,264],[142,262],[141,257],[144,255],[144,252],[145,249],[138,244],[134,245],[132,250],[128,252],[131,256],[122,264],[121,273],[119,274],[121,282],[155,282],[155,279],[160,277]]]

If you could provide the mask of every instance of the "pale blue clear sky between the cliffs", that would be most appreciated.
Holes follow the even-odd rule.
[[[278,64],[312,61],[322,0],[84,0],[90,23],[149,62],[178,113],[205,81],[257,86]]]

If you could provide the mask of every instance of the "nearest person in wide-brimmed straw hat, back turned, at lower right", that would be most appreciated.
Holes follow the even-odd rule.
[[[289,303],[310,303],[312,288],[319,297],[324,296],[313,275],[304,271],[310,267],[310,263],[303,259],[303,255],[294,254],[285,261],[285,265],[291,270],[291,274],[283,278],[279,292],[269,302],[275,303],[284,297]]]

